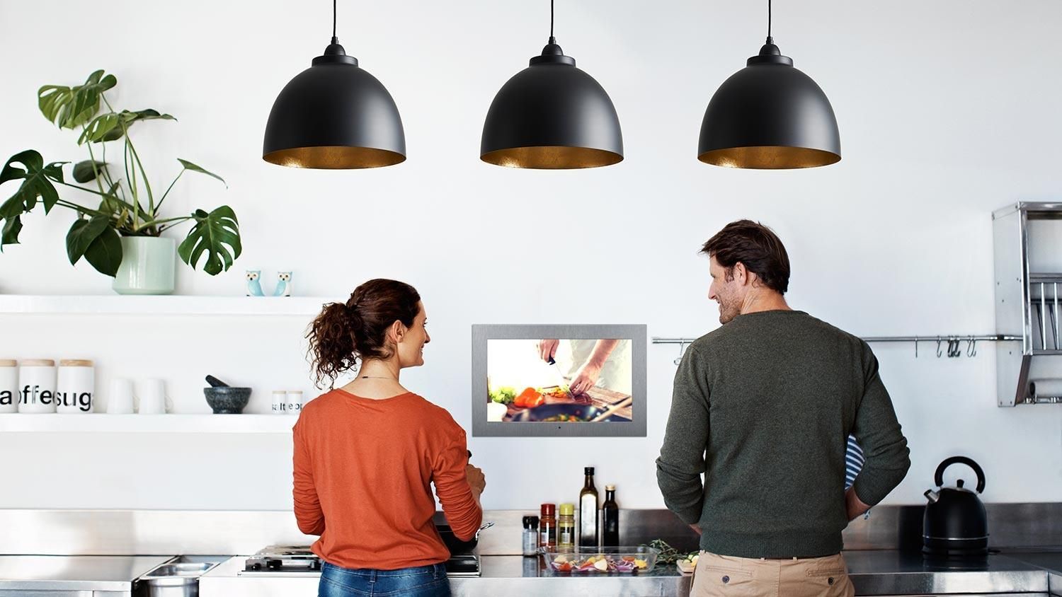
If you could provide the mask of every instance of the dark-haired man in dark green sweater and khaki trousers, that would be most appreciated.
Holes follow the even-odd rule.
[[[789,308],[766,226],[731,223],[701,252],[723,326],[682,359],[656,460],[665,504],[702,533],[691,595],[851,596],[841,530],[910,467],[877,359]],[[845,491],[850,434],[866,461]]]

